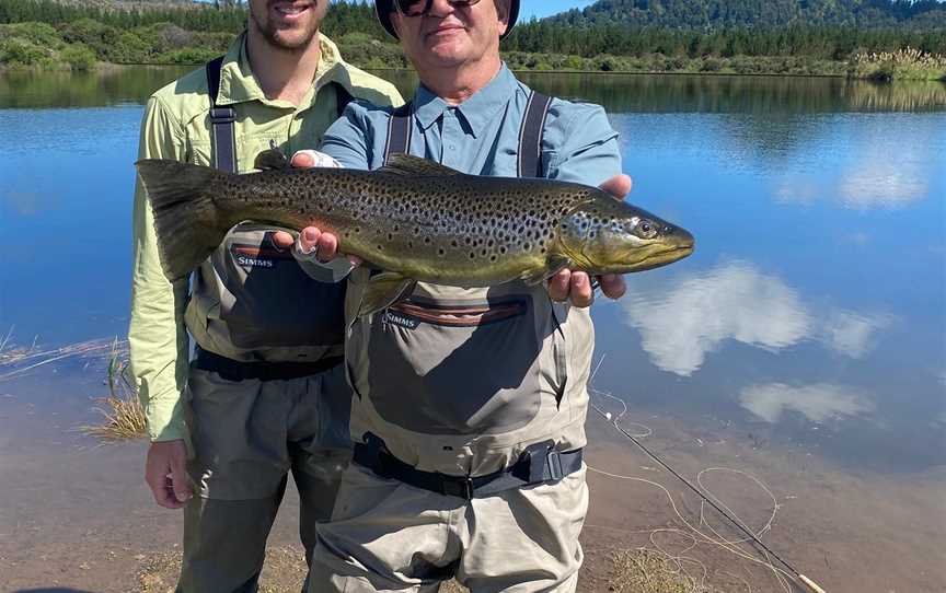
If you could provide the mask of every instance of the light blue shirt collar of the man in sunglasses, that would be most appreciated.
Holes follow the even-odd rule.
[[[486,86],[473,93],[463,103],[453,106],[453,109],[459,117],[466,120],[475,137],[477,131],[485,129],[496,113],[512,98],[517,86],[516,77],[504,62]],[[450,107],[451,105],[435,95],[423,83],[414,93],[414,116],[424,129],[429,128]]]

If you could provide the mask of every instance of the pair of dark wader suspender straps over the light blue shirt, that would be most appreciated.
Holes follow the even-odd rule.
[[[542,176],[542,132],[545,116],[552,97],[532,91],[526,105],[526,115],[519,127],[519,159],[516,161],[517,177]],[[411,119],[414,113],[407,103],[394,109],[388,120],[388,141],[384,148],[384,163],[395,152],[411,153]]]

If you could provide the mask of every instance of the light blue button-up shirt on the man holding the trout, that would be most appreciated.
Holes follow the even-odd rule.
[[[484,89],[449,105],[423,84],[412,101],[411,154],[463,173],[516,176],[519,130],[530,89],[504,63]],[[393,108],[351,102],[321,150],[348,168],[383,165]],[[621,153],[604,109],[555,98],[542,137],[543,177],[597,186],[621,173]]]

